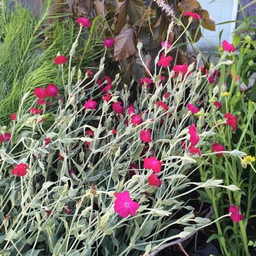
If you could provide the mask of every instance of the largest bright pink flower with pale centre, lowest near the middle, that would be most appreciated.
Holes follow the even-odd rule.
[[[129,191],[116,193],[116,200],[114,200],[114,210],[122,217],[126,218],[130,215],[135,216],[136,211],[140,205],[129,197]]]

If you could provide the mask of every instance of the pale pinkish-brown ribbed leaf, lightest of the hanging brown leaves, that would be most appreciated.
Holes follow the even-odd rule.
[[[132,28],[124,29],[115,38],[114,59],[127,59],[136,53],[135,31]]]

